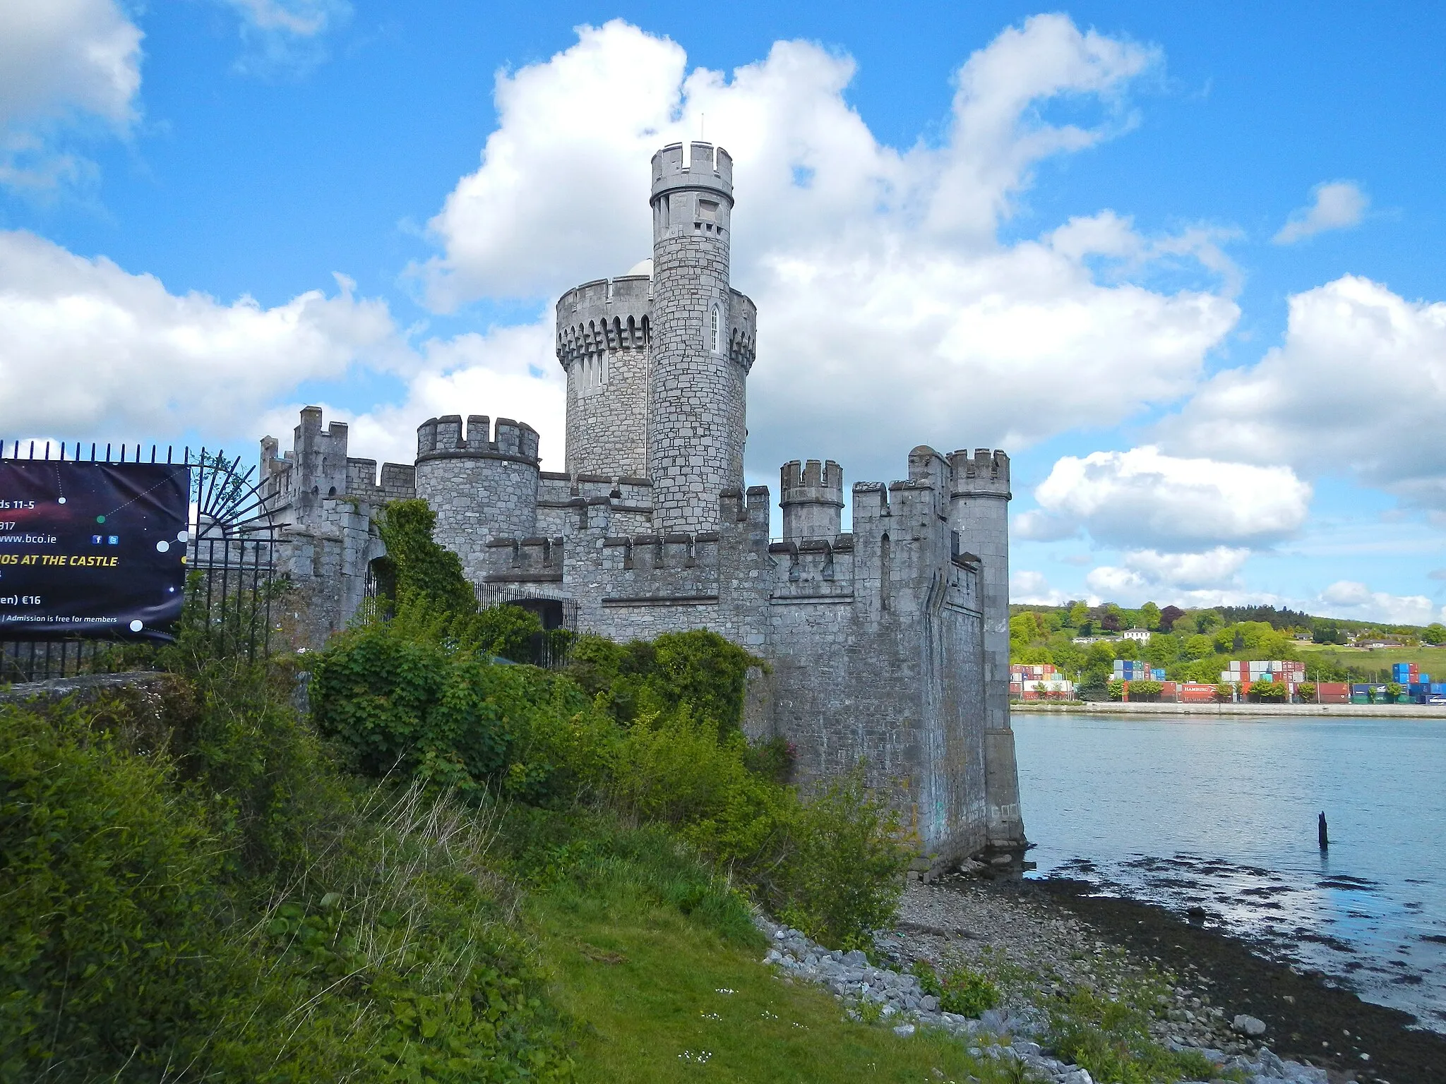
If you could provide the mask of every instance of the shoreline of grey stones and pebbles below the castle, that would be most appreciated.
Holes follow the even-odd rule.
[[[1048,1020],[1071,991],[1145,1009],[1150,1038],[1194,1051],[1219,1078],[1252,1084],[1429,1084],[1446,1067],[1446,1038],[1410,1031],[1406,1013],[1364,1003],[1320,976],[1252,954],[1219,931],[1170,912],[1102,899],[1082,882],[914,880],[894,928],[863,952],[830,952],[761,918],[766,961],[792,981],[827,986],[862,1019],[901,1035],[938,1028],[976,1057],[1021,1062],[1037,1078],[1090,1084],[1054,1057]],[[977,1019],[941,1012],[911,973],[964,964],[993,980],[998,1007]],[[1183,1077],[1181,1080],[1190,1080]]]

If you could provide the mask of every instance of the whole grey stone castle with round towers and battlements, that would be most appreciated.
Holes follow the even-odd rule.
[[[746,728],[798,750],[801,782],[852,769],[889,793],[921,851],[951,861],[1022,847],[1009,730],[1008,502],[1001,451],[918,447],[908,478],[855,483],[782,467],[743,489],[745,382],[756,308],[729,285],[733,160],[681,145],[652,158],[652,275],[586,282],[557,302],[567,371],[562,473],[508,418],[432,418],[414,465],[350,458],[347,426],[307,408],[294,449],[262,441],[302,640],[360,606],[383,555],[372,513],[421,497],[483,601],[616,640],[713,629],[765,658]]]

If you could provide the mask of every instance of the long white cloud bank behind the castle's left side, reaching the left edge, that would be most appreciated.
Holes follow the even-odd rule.
[[[0,435],[168,441],[189,432],[247,447],[263,432],[292,431],[301,403],[276,402],[298,384],[366,367],[405,390],[370,410],[327,408],[353,422],[353,454],[411,463],[428,416],[487,413],[531,423],[545,465],[561,468],[564,386],[549,322],[414,345],[383,302],[337,280],[330,296],[224,304],[0,231]]]

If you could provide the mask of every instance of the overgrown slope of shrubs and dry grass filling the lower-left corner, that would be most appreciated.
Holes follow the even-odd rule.
[[[0,708],[0,1078],[568,1078],[490,825],[357,792],[226,676],[169,733],[145,698]]]

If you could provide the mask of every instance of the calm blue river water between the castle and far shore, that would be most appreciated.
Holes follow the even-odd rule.
[[[1446,1032],[1446,720],[1012,726],[1030,876],[1205,908],[1267,955]]]

